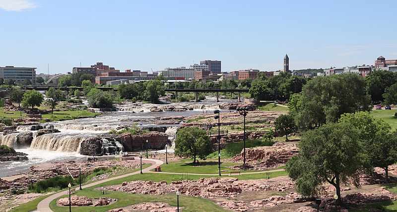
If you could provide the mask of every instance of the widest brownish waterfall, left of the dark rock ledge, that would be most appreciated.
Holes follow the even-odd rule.
[[[30,148],[79,153],[80,143],[84,139],[83,135],[45,134],[33,139]]]

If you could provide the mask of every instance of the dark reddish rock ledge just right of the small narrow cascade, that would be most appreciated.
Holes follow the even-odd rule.
[[[126,151],[141,149],[163,149],[168,142],[168,136],[165,133],[150,132],[141,135],[131,135],[130,133],[119,135],[116,138],[120,141]],[[146,142],[148,141],[148,142]]]

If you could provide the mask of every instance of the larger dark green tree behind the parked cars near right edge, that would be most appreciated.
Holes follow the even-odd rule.
[[[397,82],[397,73],[386,70],[375,70],[365,77],[368,93],[374,102],[383,101],[385,89]]]

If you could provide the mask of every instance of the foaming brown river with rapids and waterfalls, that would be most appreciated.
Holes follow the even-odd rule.
[[[139,127],[156,127],[162,126],[167,128],[177,127],[180,124],[156,125],[155,121],[161,117],[178,117],[178,116],[192,116],[204,111],[213,111],[219,108],[219,104],[224,102],[235,102],[237,100],[220,99],[219,103],[214,102],[214,97],[207,97],[205,102],[199,103],[170,103],[168,106],[189,106],[194,110],[187,111],[164,111],[164,112],[150,112],[153,106],[162,107],[154,104],[135,104],[127,103],[118,105],[120,111],[103,113],[94,118],[83,118],[67,121],[48,122],[49,126],[54,126],[55,129],[61,131],[56,134],[46,134],[36,138],[37,131],[33,132],[33,141],[29,147],[16,146],[16,138],[19,133],[30,131],[27,126],[18,126],[18,133],[8,134],[6,136],[0,135],[0,143],[13,146],[16,151],[27,153],[29,160],[26,161],[10,161],[1,162],[0,177],[26,172],[29,167],[34,164],[45,162],[56,162],[66,160],[82,161],[87,158],[87,155],[81,155],[80,143],[85,138],[96,137],[107,133],[110,130],[119,130],[125,126],[131,126],[135,123]],[[167,106],[166,105],[166,106]],[[175,132],[176,133],[176,130]],[[172,151],[172,149],[171,149]]]

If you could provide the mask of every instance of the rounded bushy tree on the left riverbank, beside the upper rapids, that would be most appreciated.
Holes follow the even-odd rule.
[[[114,95],[110,92],[104,92],[98,88],[91,88],[88,92],[87,100],[90,107],[93,108],[111,108],[113,107]]]

